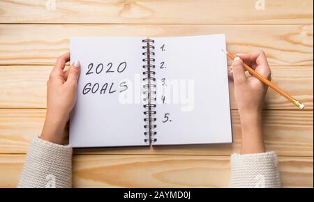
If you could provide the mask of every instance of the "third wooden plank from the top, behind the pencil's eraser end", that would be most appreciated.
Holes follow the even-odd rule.
[[[46,81],[52,66],[48,65],[3,65],[0,66],[0,108],[45,108]],[[273,81],[313,109],[313,67],[274,66]],[[234,100],[234,85],[230,81],[232,109],[237,109]],[[297,109],[269,90],[264,109]]]

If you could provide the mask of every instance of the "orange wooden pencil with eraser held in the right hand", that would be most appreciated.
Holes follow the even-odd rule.
[[[236,58],[236,56],[234,56],[233,54],[230,54],[229,52],[225,52],[223,49],[221,49],[225,54],[227,54],[227,56],[234,60]],[[294,99],[291,95],[289,95],[288,93],[286,93],[285,91],[281,90],[281,88],[278,88],[278,86],[276,86],[276,84],[274,84],[273,82],[269,81],[269,79],[266,79],[265,77],[263,77],[262,75],[260,75],[259,73],[257,73],[255,70],[253,70],[253,68],[251,68],[249,65],[247,65],[246,63],[244,63],[244,68],[246,68],[246,70],[248,70],[248,72],[251,73],[251,75],[253,75],[254,77],[256,77],[257,79],[260,79],[260,81],[262,81],[264,84],[266,84],[267,86],[271,87],[274,89],[274,91],[276,91],[277,93],[283,95],[283,97],[285,97],[287,100],[289,100],[290,102],[292,102],[292,104],[296,105],[297,107],[299,107],[300,109],[304,109],[305,105],[301,104],[301,102],[299,102],[298,100]]]

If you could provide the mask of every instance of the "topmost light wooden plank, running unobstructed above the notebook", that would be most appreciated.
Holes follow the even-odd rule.
[[[262,2],[262,4],[259,4]],[[264,4],[263,4],[264,2]],[[0,1],[0,23],[311,24],[313,1]],[[92,10],[92,15],[91,15]],[[31,15],[29,14],[31,12]]]

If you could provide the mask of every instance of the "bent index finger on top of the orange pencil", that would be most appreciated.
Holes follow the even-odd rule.
[[[248,65],[251,65],[252,63],[255,63],[256,66],[268,65],[266,54],[261,50],[256,52],[249,52],[246,54],[237,54],[236,56],[240,57],[242,61]]]

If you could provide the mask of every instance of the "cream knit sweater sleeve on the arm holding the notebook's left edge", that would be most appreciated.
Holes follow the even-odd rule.
[[[31,141],[17,187],[57,187],[72,185],[72,147],[40,138]]]

